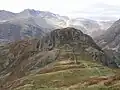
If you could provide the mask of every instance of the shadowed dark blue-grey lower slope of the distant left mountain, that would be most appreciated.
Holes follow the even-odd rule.
[[[29,23],[10,23],[0,24],[0,39],[16,41],[25,38],[40,38],[45,32],[40,26]]]

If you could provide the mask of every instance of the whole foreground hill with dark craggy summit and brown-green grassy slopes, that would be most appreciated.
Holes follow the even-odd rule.
[[[83,88],[92,78],[104,82],[104,77],[115,75],[110,68],[118,67],[90,36],[70,27],[53,30],[43,38],[8,43],[0,49],[2,90],[74,90]],[[95,88],[107,88],[97,83]]]

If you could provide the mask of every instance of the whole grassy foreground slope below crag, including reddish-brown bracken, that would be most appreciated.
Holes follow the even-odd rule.
[[[60,52],[58,60],[50,66],[8,83],[5,90],[119,90],[120,77],[114,76],[114,70],[84,53],[75,54],[76,63],[72,52]]]

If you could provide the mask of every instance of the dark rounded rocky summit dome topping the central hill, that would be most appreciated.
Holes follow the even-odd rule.
[[[81,43],[83,46],[86,44],[86,46],[95,47],[101,50],[90,36],[72,27],[56,29],[43,37],[42,42],[48,44],[48,46],[52,45],[54,47],[64,44],[74,45]]]

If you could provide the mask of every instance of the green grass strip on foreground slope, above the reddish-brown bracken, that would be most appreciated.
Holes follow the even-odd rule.
[[[84,67],[81,67],[81,65],[84,65]],[[73,66],[77,67],[73,68]],[[71,85],[82,83],[84,80],[87,80],[91,77],[108,76],[113,74],[114,73],[111,69],[107,67],[103,68],[102,65],[90,61],[81,60],[77,65],[62,65],[56,63],[56,65],[54,65],[51,71],[48,73],[27,76],[24,78],[24,85],[32,85],[32,87],[29,88],[34,89],[29,89],[27,86],[25,86],[25,88],[27,87],[28,89],[23,89],[22,87],[22,89],[19,88],[16,90],[41,90],[40,88],[42,88],[42,90],[51,90],[50,88],[54,90],[53,88],[68,88]]]

